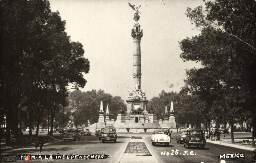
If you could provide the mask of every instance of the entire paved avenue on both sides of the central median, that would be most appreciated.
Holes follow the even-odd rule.
[[[15,156],[17,154],[103,154],[106,153],[110,158],[102,160],[86,160],[86,162],[116,162],[118,157],[122,154],[126,148],[126,144],[129,141],[130,137],[133,136],[142,136],[145,140],[145,143],[149,147],[151,154],[156,157],[159,163],[162,162],[220,162],[218,156],[223,153],[244,153],[245,159],[236,159],[229,160],[225,159],[226,162],[250,162],[252,157],[251,151],[240,150],[237,148],[226,147],[219,144],[207,143],[205,149],[197,149],[192,147],[187,149],[183,147],[183,144],[178,144],[176,142],[177,133],[172,133],[171,144],[169,147],[165,147],[161,144],[153,146],[150,142],[151,133],[117,133],[117,142],[107,142],[102,144],[94,135],[92,136],[82,136],[80,141],[56,141],[52,143],[44,144],[43,151],[40,153],[39,148],[35,149],[34,146],[14,149],[11,151],[6,151],[2,153],[2,157]],[[173,155],[171,155],[173,150]],[[175,151],[178,153],[175,155]],[[188,151],[187,155],[183,156],[184,151]],[[193,151],[194,155],[189,153]],[[161,152],[169,152],[170,155],[162,155]],[[143,157],[143,156],[141,156]],[[146,161],[146,160],[145,160]],[[35,161],[30,161],[35,162]],[[51,162],[71,162],[70,160],[52,160]],[[72,161],[73,162],[73,161]],[[85,162],[85,160],[74,160],[74,162]]]

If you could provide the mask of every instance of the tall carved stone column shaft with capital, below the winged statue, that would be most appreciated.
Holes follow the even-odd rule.
[[[141,87],[141,63],[140,63],[140,40],[143,36],[142,29],[140,30],[140,24],[136,22],[132,29],[133,39],[133,86],[138,84],[138,89]]]

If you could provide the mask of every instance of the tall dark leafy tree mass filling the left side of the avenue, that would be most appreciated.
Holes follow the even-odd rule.
[[[52,129],[59,105],[66,105],[66,87],[71,83],[83,88],[83,73],[89,72],[90,63],[83,56],[82,44],[70,41],[65,21],[58,11],[51,12],[49,1],[0,4],[1,94],[6,94],[1,96],[1,108],[6,114],[9,144],[9,131],[17,130],[21,108],[35,114],[37,129],[43,112],[49,109]],[[29,119],[31,124],[33,119]]]

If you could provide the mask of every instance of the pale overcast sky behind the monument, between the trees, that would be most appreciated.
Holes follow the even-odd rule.
[[[71,41],[83,44],[90,71],[82,91],[103,89],[113,96],[127,99],[132,85],[131,29],[134,11],[128,2],[141,5],[141,90],[147,99],[161,90],[179,92],[186,78],[185,69],[199,67],[183,62],[178,41],[198,35],[185,12],[187,7],[203,5],[203,0],[51,0],[52,11],[59,11],[66,20]],[[173,84],[170,88],[168,85]]]

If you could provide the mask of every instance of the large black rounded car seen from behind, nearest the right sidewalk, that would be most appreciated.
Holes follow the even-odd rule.
[[[204,138],[204,133],[200,129],[190,129],[187,130],[186,137],[184,138],[183,146],[189,148],[191,145],[201,146],[204,149],[206,140]]]

